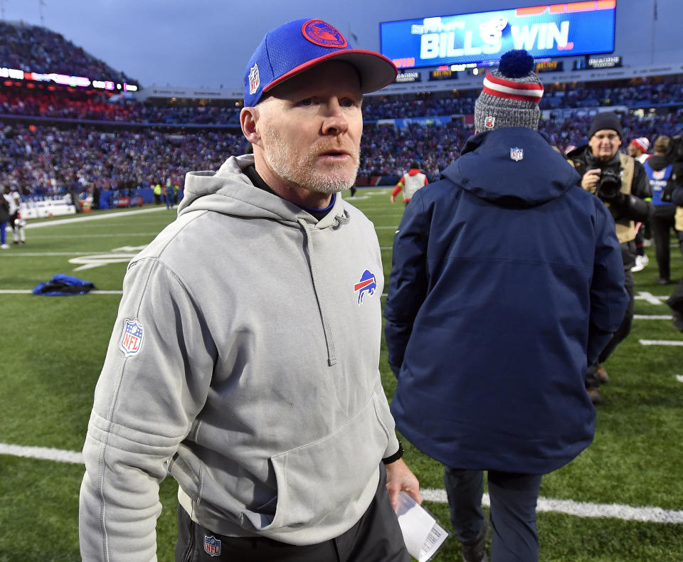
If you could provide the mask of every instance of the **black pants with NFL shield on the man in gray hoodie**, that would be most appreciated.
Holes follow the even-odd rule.
[[[308,546],[264,537],[219,535],[192,521],[179,506],[176,562],[409,562],[401,527],[389,503],[383,465],[380,474],[375,497],[361,519],[337,538]],[[213,551],[213,556],[207,550]]]

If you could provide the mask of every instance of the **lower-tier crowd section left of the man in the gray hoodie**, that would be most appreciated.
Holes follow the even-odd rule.
[[[226,154],[243,152],[231,132],[116,132],[0,122],[0,184],[24,196],[116,189],[120,181],[149,187],[181,184],[190,169],[217,169]]]

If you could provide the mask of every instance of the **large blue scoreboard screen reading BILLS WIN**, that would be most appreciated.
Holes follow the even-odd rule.
[[[379,24],[398,68],[481,63],[511,49],[534,58],[612,53],[616,0],[591,0]]]

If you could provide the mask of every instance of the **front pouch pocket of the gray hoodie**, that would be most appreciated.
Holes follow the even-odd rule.
[[[355,418],[329,435],[270,457],[277,482],[275,515],[243,515],[260,531],[275,531],[315,525],[328,517],[334,524],[366,509],[366,504],[355,509],[353,504],[374,495],[388,443],[377,402],[373,395]]]

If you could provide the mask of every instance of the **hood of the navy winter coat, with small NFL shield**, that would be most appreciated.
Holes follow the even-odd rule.
[[[541,133],[526,127],[475,134],[443,176],[478,198],[515,208],[558,198],[581,179]]]

